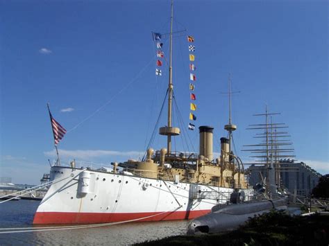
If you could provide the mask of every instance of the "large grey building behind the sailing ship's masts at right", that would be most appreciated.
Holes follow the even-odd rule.
[[[282,159],[280,164],[280,185],[297,195],[308,195],[317,186],[321,174],[303,162],[294,162],[291,159]],[[246,164],[248,165],[248,164]],[[251,185],[262,182],[267,177],[264,164],[250,164],[248,179]]]

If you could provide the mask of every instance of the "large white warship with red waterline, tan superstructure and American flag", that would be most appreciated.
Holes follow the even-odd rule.
[[[231,117],[224,127],[228,137],[221,138],[220,157],[213,155],[214,128],[206,125],[199,127],[199,154],[171,148],[172,139],[180,135],[171,115],[173,12],[171,2],[167,125],[159,128],[159,134],[167,137],[167,148],[148,148],[143,159],[113,162],[113,168],[78,168],[74,162],[61,166],[57,161],[51,166],[51,186],[35,212],[33,224],[192,219],[210,213],[214,205],[228,203],[234,191],[244,194],[246,200],[253,195],[242,161],[230,147],[232,132],[237,128]],[[61,132],[54,122],[53,131]]]

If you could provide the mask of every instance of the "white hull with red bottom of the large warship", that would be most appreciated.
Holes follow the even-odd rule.
[[[83,180],[82,173],[90,178]],[[55,182],[37,208],[33,224],[192,219],[226,203],[233,192],[233,188],[60,166],[51,168],[51,180]],[[250,189],[244,191],[252,194]]]

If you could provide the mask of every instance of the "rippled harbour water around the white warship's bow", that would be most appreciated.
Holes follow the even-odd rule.
[[[0,227],[32,227],[39,203],[19,200],[0,204]],[[0,234],[0,245],[131,245],[186,234],[188,223],[187,220],[130,222],[87,229]]]

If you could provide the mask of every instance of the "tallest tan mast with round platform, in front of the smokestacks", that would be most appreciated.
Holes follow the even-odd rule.
[[[171,0],[171,17],[170,17],[170,35],[169,35],[169,82],[168,82],[168,121],[167,126],[160,128],[160,135],[167,136],[167,154],[171,152],[171,136],[177,136],[180,134],[179,128],[171,126],[172,118],[172,99],[174,85],[172,81],[172,51],[173,51],[173,21],[174,21],[174,0]]]

